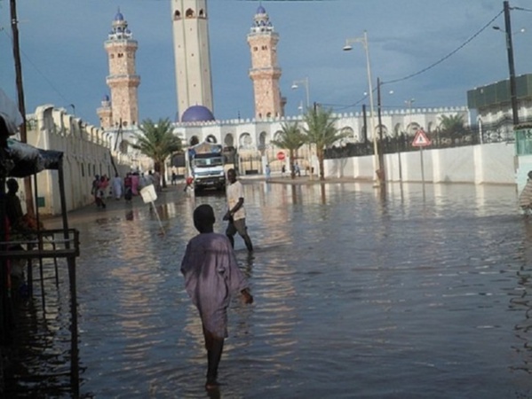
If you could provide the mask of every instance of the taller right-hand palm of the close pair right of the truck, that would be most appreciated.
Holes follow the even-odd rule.
[[[325,149],[347,137],[349,133],[342,133],[335,126],[336,118],[332,116],[332,110],[324,110],[321,107],[309,108],[304,116],[306,129],[306,142],[316,145],[316,156],[320,168],[320,180],[325,179],[323,157]]]

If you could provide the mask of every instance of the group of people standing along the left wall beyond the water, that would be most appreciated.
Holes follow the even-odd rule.
[[[147,176],[144,173],[128,172],[123,178],[116,173],[112,180],[107,175],[96,175],[92,181],[91,194],[96,206],[105,208],[107,198],[121,200],[123,197],[126,202],[131,202],[132,197],[139,195],[140,189],[149,184],[154,184],[156,192],[163,190],[159,172],[150,170]]]

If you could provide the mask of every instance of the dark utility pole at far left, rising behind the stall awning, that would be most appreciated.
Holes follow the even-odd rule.
[[[22,125],[20,125],[20,141],[28,143],[26,129],[26,106],[24,102],[24,88],[22,86],[22,66],[20,64],[20,44],[19,44],[19,20],[17,18],[16,0],[10,0],[11,26],[13,34],[13,58],[15,60],[15,74],[17,83],[17,98],[19,100],[19,111],[22,115]],[[35,215],[33,190],[31,187],[31,177],[24,178],[24,193],[26,196],[26,211],[29,215]]]

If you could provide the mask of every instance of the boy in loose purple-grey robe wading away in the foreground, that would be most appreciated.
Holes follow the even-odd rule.
[[[218,364],[227,336],[230,295],[242,293],[245,303],[253,302],[233,247],[225,235],[213,232],[214,222],[210,205],[195,208],[194,225],[200,234],[188,242],[181,262],[185,288],[202,318],[208,360],[207,389],[218,387]]]

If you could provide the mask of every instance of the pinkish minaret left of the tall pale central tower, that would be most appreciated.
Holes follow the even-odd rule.
[[[128,23],[123,19],[120,9],[116,12],[112,27],[104,45],[109,59],[106,82],[111,90],[111,117],[106,117],[103,102],[98,110],[101,127],[104,129],[116,127],[120,122],[123,127],[139,123],[137,88],[140,76],[135,70],[135,52],[139,44],[132,38],[131,30],[128,29]],[[105,121],[110,121],[111,125],[104,125]]]

